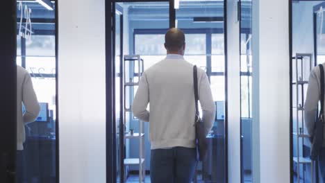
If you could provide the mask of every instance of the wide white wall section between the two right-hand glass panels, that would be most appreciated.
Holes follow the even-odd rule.
[[[288,5],[253,2],[254,182],[290,182]]]

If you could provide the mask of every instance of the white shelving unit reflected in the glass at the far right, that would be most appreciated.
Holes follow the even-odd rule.
[[[293,132],[293,135],[297,137],[297,156],[293,157],[293,162],[297,164],[297,183],[300,182],[300,166],[303,165],[303,182],[306,182],[306,164],[310,164],[310,175],[311,175],[311,183],[314,183],[314,162],[309,157],[303,157],[301,155],[301,145],[303,146],[304,141],[306,138],[309,138],[309,135],[304,132],[304,118],[303,118],[303,111],[304,111],[304,103],[305,103],[305,87],[308,85],[308,80],[304,79],[304,75],[306,75],[306,69],[310,70],[313,68],[313,55],[312,54],[305,54],[305,53],[297,53],[293,60],[295,60],[295,72],[296,72],[296,80],[292,82],[292,85],[296,86],[296,112],[297,112],[297,119],[296,119],[296,131]],[[307,59],[308,58],[308,59]],[[309,63],[308,67],[306,68],[306,62]],[[300,113],[300,114],[299,114]]]

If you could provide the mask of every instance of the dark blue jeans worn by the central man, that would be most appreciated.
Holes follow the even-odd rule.
[[[195,148],[151,150],[151,183],[189,183],[197,166]]]

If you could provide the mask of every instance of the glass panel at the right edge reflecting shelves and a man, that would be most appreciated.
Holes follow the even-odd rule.
[[[304,120],[310,70],[324,58],[323,13],[325,1],[292,1],[292,55],[291,67],[291,130],[292,130],[292,180],[317,182],[317,166],[310,159],[310,140]]]

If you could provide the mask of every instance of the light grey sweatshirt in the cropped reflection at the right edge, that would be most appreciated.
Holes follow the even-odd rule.
[[[325,68],[324,64],[323,66]],[[315,125],[315,120],[317,119],[317,109],[318,109],[317,107],[318,107],[319,100],[320,100],[320,72],[319,72],[319,66],[317,66],[310,72],[307,97],[305,103],[305,123],[306,123],[306,128],[308,130],[308,134],[310,136],[313,136],[313,129]],[[323,143],[323,146],[325,146],[325,141]]]

